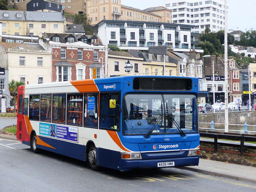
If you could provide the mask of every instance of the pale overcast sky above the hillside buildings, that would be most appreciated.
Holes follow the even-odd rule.
[[[227,2],[229,2],[228,29],[243,32],[251,28],[256,30],[254,20],[256,0],[227,0]],[[144,10],[149,7],[165,6],[165,0],[121,0],[121,4]]]

